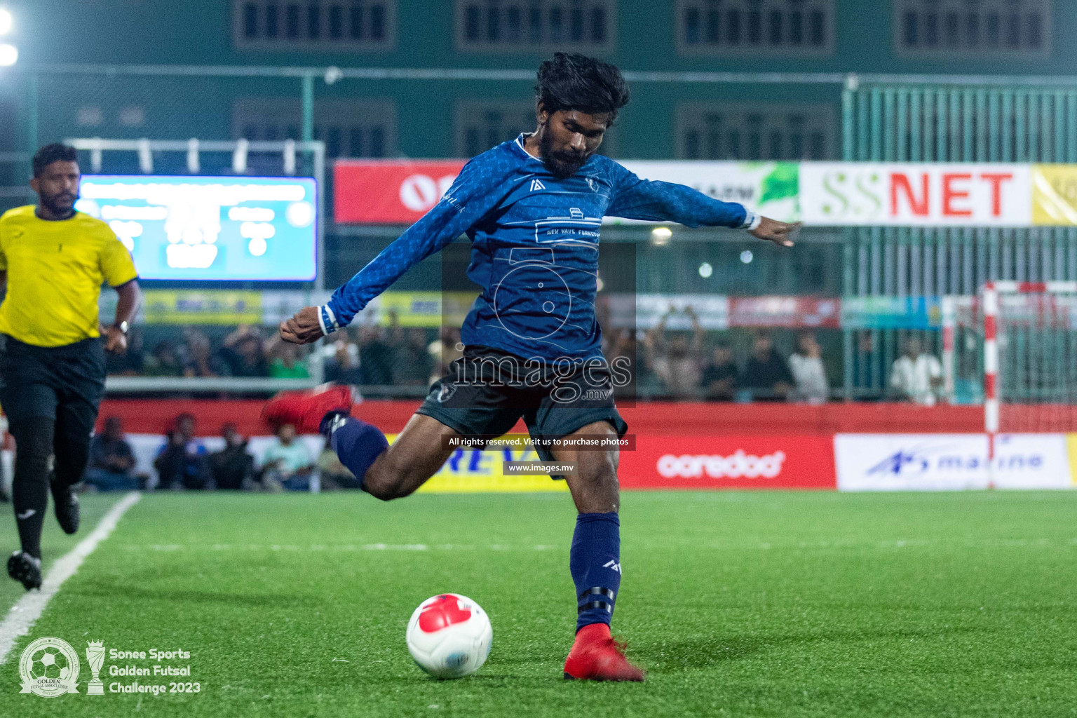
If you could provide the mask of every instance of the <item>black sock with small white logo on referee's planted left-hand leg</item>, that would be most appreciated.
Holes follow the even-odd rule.
[[[53,452],[56,422],[44,417],[13,421],[15,478],[12,503],[23,550],[41,558],[41,526],[48,507],[48,456]]]

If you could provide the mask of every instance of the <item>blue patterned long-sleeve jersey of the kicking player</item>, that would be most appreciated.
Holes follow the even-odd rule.
[[[466,234],[467,276],[482,293],[461,328],[465,344],[545,361],[601,356],[595,295],[603,216],[690,227],[746,227],[755,219],[690,187],[641,180],[602,155],[557,179],[523,149],[526,137],[468,161],[430,212],[333,293],[325,328],[347,325],[409,267]]]

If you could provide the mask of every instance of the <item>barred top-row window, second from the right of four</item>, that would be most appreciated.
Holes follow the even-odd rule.
[[[834,0],[677,0],[682,55],[829,55]]]

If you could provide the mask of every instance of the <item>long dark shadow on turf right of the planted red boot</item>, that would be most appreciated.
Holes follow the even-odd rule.
[[[821,642],[859,643],[886,638],[941,638],[983,629],[953,627],[938,630],[913,629],[892,631],[805,631],[801,633],[736,636],[731,638],[689,638],[660,640],[648,645],[637,642],[629,647],[629,657],[642,659],[648,673],[676,673],[708,668],[737,661],[768,650],[792,645]],[[637,650],[631,650],[631,648]],[[657,660],[656,660],[657,659]]]

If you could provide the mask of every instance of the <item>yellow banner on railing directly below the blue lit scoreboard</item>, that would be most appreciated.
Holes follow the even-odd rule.
[[[146,290],[148,324],[257,324],[261,292]]]

